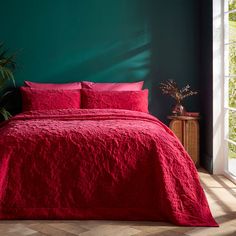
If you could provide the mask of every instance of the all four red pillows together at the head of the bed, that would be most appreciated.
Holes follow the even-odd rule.
[[[21,87],[23,111],[52,109],[126,109],[148,112],[148,90],[134,83],[25,81]]]

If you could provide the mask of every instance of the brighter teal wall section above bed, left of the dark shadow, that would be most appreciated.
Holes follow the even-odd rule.
[[[17,81],[135,81],[150,32],[140,0],[9,0],[1,40],[19,53]],[[10,17],[9,17],[10,16]],[[3,28],[2,28],[3,27]]]

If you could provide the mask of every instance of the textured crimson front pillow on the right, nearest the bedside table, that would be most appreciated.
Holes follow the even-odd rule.
[[[148,90],[95,91],[81,90],[82,108],[125,109],[148,112]]]

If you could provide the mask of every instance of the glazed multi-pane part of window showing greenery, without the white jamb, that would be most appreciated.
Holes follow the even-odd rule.
[[[236,0],[224,1],[224,110],[226,172],[236,177]]]

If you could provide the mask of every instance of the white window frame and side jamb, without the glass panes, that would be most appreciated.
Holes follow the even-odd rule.
[[[236,12],[228,11],[225,0],[213,1],[213,174],[224,174],[236,183],[236,177],[228,171],[228,138],[229,111],[236,111],[228,105],[229,79],[235,76],[226,75],[228,56],[225,48],[236,42],[228,43],[228,23],[225,15]]]

